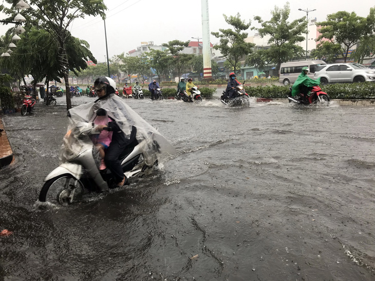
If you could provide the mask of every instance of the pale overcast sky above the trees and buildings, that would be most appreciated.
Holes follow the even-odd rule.
[[[28,2],[26,0],[26,2]],[[107,6],[107,42],[109,57],[136,49],[141,42],[154,42],[155,45],[167,43],[173,39],[181,41],[196,41],[192,37],[202,37],[201,0],[104,0]],[[271,18],[271,10],[275,6],[283,8],[285,0],[251,1],[251,0],[209,0],[210,31],[219,28],[229,28],[223,14],[236,15],[240,13],[246,22],[251,20],[251,26],[259,27],[254,16],[260,16],[264,21]],[[309,13],[309,18],[324,21],[327,14],[337,11],[355,12],[366,17],[370,8],[374,7],[373,0],[290,0],[289,21],[306,17],[306,12],[298,8],[316,11]],[[90,50],[99,62],[106,55],[104,24],[100,17],[76,19],[70,26],[73,36],[84,39],[90,45]],[[2,32],[4,34],[5,32]],[[248,31],[253,35],[255,31]],[[218,39],[211,35],[211,43]]]

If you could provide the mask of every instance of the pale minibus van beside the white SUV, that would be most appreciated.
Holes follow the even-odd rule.
[[[310,78],[313,78],[317,66],[325,64],[326,63],[324,61],[303,61],[281,64],[280,70],[278,71],[278,82],[283,83],[284,85],[293,84],[296,81],[298,75],[302,73],[302,68],[305,66],[309,68],[309,72],[307,75]]]

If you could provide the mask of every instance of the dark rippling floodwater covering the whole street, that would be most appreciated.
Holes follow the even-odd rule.
[[[375,279],[374,108],[126,100],[177,155],[41,208],[64,98],[3,117],[16,161],[0,170],[0,280]]]

